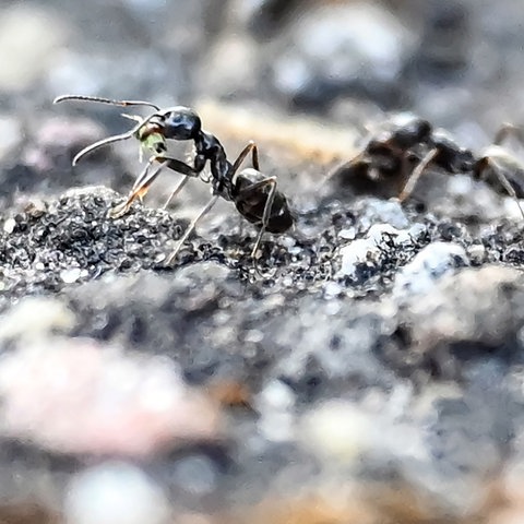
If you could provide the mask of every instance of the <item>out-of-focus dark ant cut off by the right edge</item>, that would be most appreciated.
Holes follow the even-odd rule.
[[[524,198],[524,165],[501,145],[510,134],[524,143],[522,130],[504,124],[493,143],[476,156],[443,130],[433,130],[427,120],[401,114],[384,122],[362,151],[336,168],[330,178],[340,176],[362,190],[376,184],[379,191],[384,189],[390,195],[393,192],[404,202],[433,165],[449,175],[472,174],[475,180],[484,180],[497,193],[509,194],[524,217],[519,203],[519,199]],[[383,184],[385,188],[379,188]]]

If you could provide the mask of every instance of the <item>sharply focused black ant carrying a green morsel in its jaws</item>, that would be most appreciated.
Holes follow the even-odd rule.
[[[218,139],[202,129],[201,119],[193,109],[183,106],[160,109],[155,104],[148,102],[114,100],[78,95],[59,96],[55,99],[55,104],[63,100],[87,100],[122,107],[146,106],[155,110],[146,118],[123,115],[135,120],[138,122],[136,126],[126,133],[108,136],[91,144],[73,158],[74,166],[84,155],[98,147],[131,138],[136,139],[142,148],[152,154],[144,170],[136,178],[128,200],[110,211],[111,217],[117,218],[124,215],[134,200],[142,200],[162,169],[166,167],[182,174],[183,178],[174,189],[164,207],[183,188],[189,178],[200,177],[203,181],[211,183],[213,196],[188,226],[177,248],[167,258],[166,265],[170,265],[174,262],[180,248],[194,230],[198,223],[209,213],[219,198],[233,202],[237,211],[248,222],[260,227],[251,252],[253,260],[255,260],[264,231],[279,234],[287,231],[294,225],[295,218],[289,210],[287,199],[276,188],[276,178],[266,177],[260,171],[257,145],[250,142],[231,164],[227,159],[226,152]],[[194,142],[195,156],[192,166],[168,155],[167,141],[170,140]],[[250,153],[253,168],[239,171],[240,165]],[[159,165],[151,171],[151,166],[155,162],[159,163]],[[206,162],[211,166],[211,176],[209,178],[202,176]]]

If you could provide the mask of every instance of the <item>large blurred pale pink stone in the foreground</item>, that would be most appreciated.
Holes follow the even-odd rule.
[[[3,356],[0,406],[0,436],[59,453],[144,456],[218,438],[218,407],[171,360],[90,340]]]

